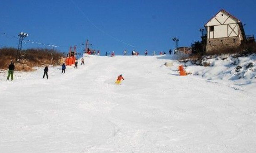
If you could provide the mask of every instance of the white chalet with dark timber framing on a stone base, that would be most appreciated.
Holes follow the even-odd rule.
[[[220,10],[206,24],[207,43],[206,52],[223,47],[239,46],[246,40],[245,31],[241,20]]]

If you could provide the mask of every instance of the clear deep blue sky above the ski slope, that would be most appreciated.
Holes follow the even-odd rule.
[[[17,48],[22,31],[38,42],[23,48],[45,48],[40,42],[66,52],[89,39],[101,54],[168,51],[173,37],[179,46],[200,40],[199,29],[221,9],[246,24],[246,34],[256,34],[256,0],[0,0],[0,6],[0,47]]]

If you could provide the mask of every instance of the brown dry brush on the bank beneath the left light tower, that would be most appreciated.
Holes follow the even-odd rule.
[[[17,49],[0,48],[0,69],[8,69],[10,61],[16,60]],[[15,62],[16,71],[33,71],[33,67],[54,64],[60,53],[53,49],[32,48],[22,51],[23,59]]]

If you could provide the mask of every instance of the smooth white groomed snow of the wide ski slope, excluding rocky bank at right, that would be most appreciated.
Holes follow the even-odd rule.
[[[85,57],[48,80],[42,67],[0,73],[0,151],[256,152],[256,94],[181,77],[172,59]]]

